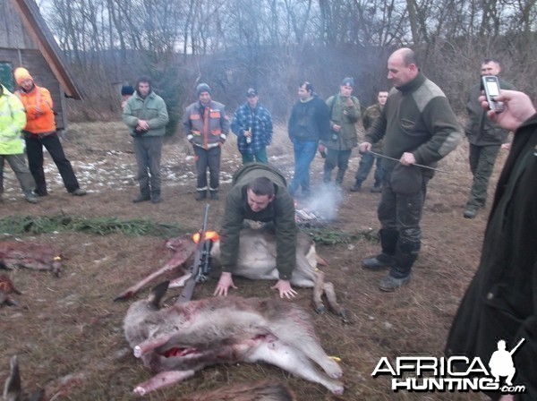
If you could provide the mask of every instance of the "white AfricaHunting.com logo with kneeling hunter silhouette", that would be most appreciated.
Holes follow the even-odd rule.
[[[502,394],[525,393],[524,385],[513,385],[516,374],[513,354],[524,338],[511,350],[499,340],[498,350],[490,356],[488,367],[481,358],[465,355],[449,358],[435,356],[399,356],[393,363],[383,356],[371,376],[391,376],[391,389],[411,392],[480,392],[499,391]]]

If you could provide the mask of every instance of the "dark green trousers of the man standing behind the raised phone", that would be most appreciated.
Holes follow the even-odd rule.
[[[499,145],[475,146],[470,144],[470,170],[473,174],[472,188],[466,206],[485,206],[490,175],[499,153]]]

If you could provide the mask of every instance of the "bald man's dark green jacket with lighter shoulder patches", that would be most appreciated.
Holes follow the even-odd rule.
[[[371,143],[383,138],[384,155],[389,158],[398,160],[411,152],[417,164],[434,167],[456,148],[462,134],[444,92],[419,73],[413,81],[390,90],[382,114],[365,135]],[[382,167],[391,171],[396,160],[385,158]],[[429,169],[422,173],[433,175]]]

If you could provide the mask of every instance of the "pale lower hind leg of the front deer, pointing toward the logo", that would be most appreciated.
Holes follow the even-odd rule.
[[[279,340],[261,342],[246,357],[246,362],[255,363],[258,361],[271,363],[299,378],[319,383],[334,394],[343,394],[344,388],[341,381],[328,379],[315,369],[311,361],[300,350]]]

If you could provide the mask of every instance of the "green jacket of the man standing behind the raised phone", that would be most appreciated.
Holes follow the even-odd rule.
[[[499,86],[504,90],[515,89],[513,85],[506,81],[499,81]],[[487,118],[485,110],[479,103],[481,91],[481,85],[477,84],[468,93],[468,103],[466,103],[468,120],[465,125],[465,135],[468,141],[476,146],[499,146],[507,141],[508,131]]]

